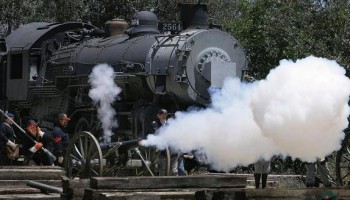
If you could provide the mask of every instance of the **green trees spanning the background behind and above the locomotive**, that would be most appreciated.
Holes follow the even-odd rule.
[[[179,0],[2,0],[0,37],[35,21],[81,21],[103,27],[130,21],[140,10],[178,21]],[[252,73],[264,77],[282,59],[335,59],[350,71],[348,0],[206,0],[211,23],[221,24],[245,48]]]

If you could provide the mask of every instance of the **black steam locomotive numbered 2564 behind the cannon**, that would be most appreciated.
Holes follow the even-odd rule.
[[[88,96],[94,66],[114,69],[122,93],[115,100],[117,135],[139,138],[151,132],[159,108],[170,112],[210,103],[209,87],[225,77],[241,78],[243,48],[208,23],[205,4],[179,4],[181,22],[160,23],[137,12],[131,26],[114,20],[103,33],[90,24],[36,22],[0,41],[0,106],[18,119],[31,116],[50,128],[59,113],[69,130],[99,132],[96,106]]]

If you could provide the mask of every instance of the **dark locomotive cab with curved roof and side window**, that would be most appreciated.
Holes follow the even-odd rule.
[[[2,91],[5,91],[2,99],[11,102],[5,109],[29,110],[33,100],[56,94],[55,80],[45,75],[47,60],[67,42],[67,32],[83,28],[95,27],[78,22],[34,22],[19,27],[5,38],[7,54],[2,61],[2,71],[6,81],[2,81]],[[36,117],[44,118],[43,115]]]

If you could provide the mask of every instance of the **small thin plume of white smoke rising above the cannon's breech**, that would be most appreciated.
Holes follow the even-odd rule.
[[[118,126],[112,103],[122,90],[115,84],[114,78],[114,70],[107,64],[95,66],[89,75],[91,85],[89,97],[97,104],[97,114],[102,123],[105,143],[111,141],[112,128]]]

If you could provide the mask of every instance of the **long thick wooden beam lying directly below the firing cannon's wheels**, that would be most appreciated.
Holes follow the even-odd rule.
[[[235,176],[156,176],[156,177],[94,177],[93,189],[155,189],[155,188],[244,188],[246,177]]]

